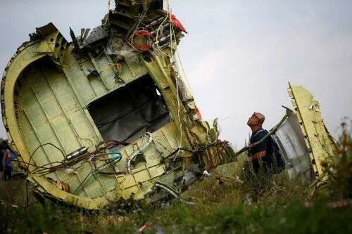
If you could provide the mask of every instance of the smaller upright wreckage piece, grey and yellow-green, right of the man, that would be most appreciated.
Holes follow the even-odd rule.
[[[275,126],[275,139],[286,162],[289,178],[301,176],[308,182],[326,179],[324,163],[336,157],[337,141],[329,134],[320,105],[302,86],[289,84],[294,111]]]

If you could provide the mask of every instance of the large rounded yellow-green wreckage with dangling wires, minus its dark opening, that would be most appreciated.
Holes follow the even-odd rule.
[[[2,117],[20,166],[37,193],[85,209],[130,199],[155,201],[196,181],[187,178],[201,178],[203,170],[234,160],[228,143],[218,141],[216,127],[199,119],[193,97],[177,74],[170,56],[180,41],[175,25],[168,22],[178,33],[176,41],[156,51],[138,51],[125,41],[127,47],[120,49],[128,48],[130,56],[107,53],[106,40],[116,37],[113,30],[127,35],[134,30],[130,20],[135,17],[120,18],[120,11],[133,16],[142,12],[140,20],[148,22],[161,16],[168,21],[168,14],[158,11],[158,2],[144,1],[141,6],[119,1],[102,26],[108,36],[89,46],[80,37],[69,43],[49,23],[11,58],[1,82]],[[172,119],[119,148],[122,160],[115,160],[107,143],[101,144],[104,139],[89,105],[146,75],[160,90]],[[69,162],[67,155],[80,148],[88,152]]]

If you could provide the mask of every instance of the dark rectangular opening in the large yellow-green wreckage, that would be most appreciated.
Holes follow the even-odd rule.
[[[135,141],[171,121],[168,107],[149,76],[94,100],[88,110],[105,141]]]

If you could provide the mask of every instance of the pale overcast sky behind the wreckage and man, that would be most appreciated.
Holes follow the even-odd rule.
[[[0,1],[0,70],[36,27],[53,22],[70,41],[68,27],[100,25],[108,1]],[[246,121],[263,112],[270,129],[291,107],[288,82],[320,101],[337,136],[352,117],[352,1],[170,0],[189,34],[179,51],[204,119],[220,120],[220,138],[234,147],[249,136]],[[221,4],[220,4],[221,2]],[[6,136],[1,124],[0,136]]]

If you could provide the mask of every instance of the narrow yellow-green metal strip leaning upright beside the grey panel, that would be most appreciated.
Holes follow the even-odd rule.
[[[322,162],[327,157],[336,155],[337,146],[325,127],[318,101],[302,86],[289,84],[288,91],[310,152],[315,175],[320,176],[323,172]]]

